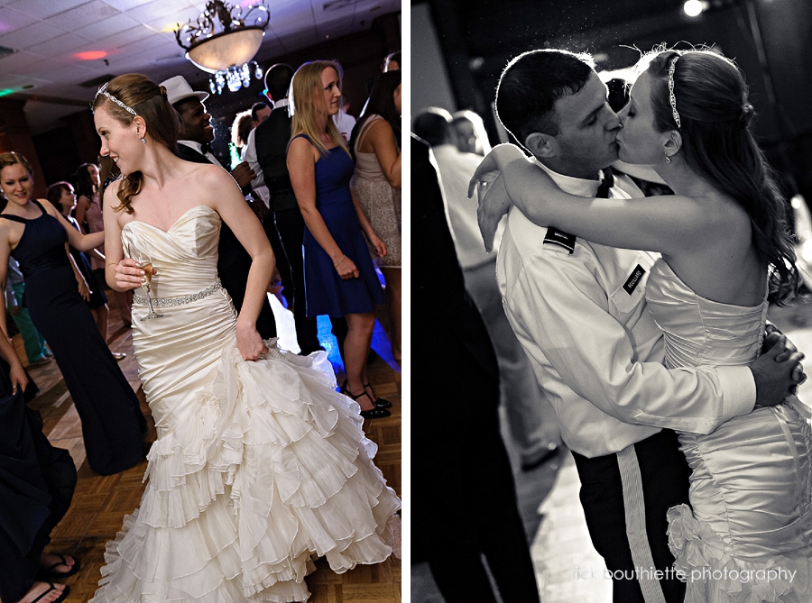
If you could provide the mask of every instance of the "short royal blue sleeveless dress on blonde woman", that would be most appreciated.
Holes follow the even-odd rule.
[[[304,134],[299,136],[310,140]],[[341,252],[355,262],[360,276],[339,277],[333,260],[305,226],[302,249],[308,316],[363,314],[386,302],[355,214],[349,186],[353,169],[353,160],[340,148],[328,151],[316,162],[316,209]]]

